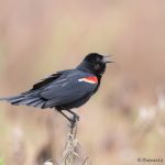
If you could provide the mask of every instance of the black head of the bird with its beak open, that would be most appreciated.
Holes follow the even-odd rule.
[[[89,70],[95,75],[103,75],[106,70],[106,66],[108,63],[113,63],[108,61],[107,58],[110,56],[105,56],[98,53],[90,53],[88,54],[82,63],[78,66],[78,68]]]

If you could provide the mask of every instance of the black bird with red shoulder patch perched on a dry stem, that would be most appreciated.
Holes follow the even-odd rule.
[[[16,106],[24,105],[41,109],[55,108],[72,121],[63,112],[63,110],[67,110],[76,119],[79,119],[70,109],[86,103],[98,90],[106,64],[112,63],[107,61],[107,57],[98,53],[90,53],[76,68],[57,72],[36,82],[29,91],[0,100],[7,100]]]

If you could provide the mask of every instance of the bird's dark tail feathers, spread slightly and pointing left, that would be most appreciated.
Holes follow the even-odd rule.
[[[0,98],[0,101],[8,101],[11,105],[15,105],[15,106],[23,105],[23,106],[31,106],[31,107],[38,107],[38,108],[44,108],[45,105],[45,100],[38,97],[32,97],[26,95],[19,95],[9,98]]]

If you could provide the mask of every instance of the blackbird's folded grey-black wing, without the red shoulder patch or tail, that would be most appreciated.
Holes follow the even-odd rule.
[[[40,94],[42,98],[47,100],[44,108],[66,105],[86,95],[92,95],[97,88],[97,84],[78,81],[78,79],[88,76],[94,75],[77,70],[52,82],[51,86]]]

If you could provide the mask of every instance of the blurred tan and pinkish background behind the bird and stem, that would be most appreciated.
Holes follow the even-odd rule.
[[[75,67],[87,53],[112,54],[99,92],[76,110],[80,160],[165,158],[164,15],[163,0],[0,0],[0,97]],[[0,102],[0,162],[59,162],[68,130],[53,110]]]

